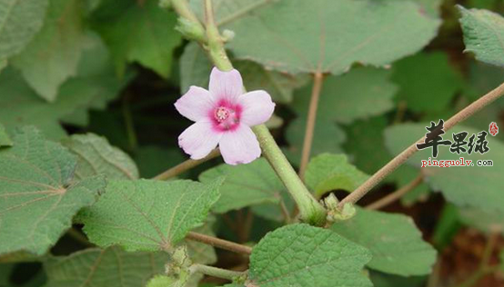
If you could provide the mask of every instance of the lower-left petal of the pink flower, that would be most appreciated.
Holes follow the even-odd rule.
[[[192,124],[178,136],[178,145],[193,160],[199,160],[216,148],[222,134],[217,133],[212,123],[200,121]]]

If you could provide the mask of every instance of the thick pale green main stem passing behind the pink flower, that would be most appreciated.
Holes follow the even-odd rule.
[[[219,70],[229,71],[233,69],[233,64],[231,64],[227,57],[222,37],[218,32],[211,0],[205,1],[205,15],[207,18],[207,49],[210,59]],[[282,183],[287,187],[287,191],[297,203],[301,221],[312,225],[324,226],[326,223],[326,210],[308,192],[307,187],[301,182],[292,165],[288,163],[286,156],[267,130],[266,125],[256,125],[252,130],[257,136],[257,140],[267,161],[271,164]]]

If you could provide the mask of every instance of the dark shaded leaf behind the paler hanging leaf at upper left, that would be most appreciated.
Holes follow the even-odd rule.
[[[7,131],[15,127],[33,124],[50,139],[66,136],[59,121],[78,113],[86,113],[87,108],[103,109],[127,83],[110,74],[113,71],[105,48],[97,38],[89,35],[89,48],[83,54],[78,68],[78,77],[68,80],[60,88],[54,103],[41,99],[25,83],[20,74],[8,67],[0,74],[0,122]],[[105,54],[104,54],[105,52]],[[126,77],[125,77],[126,78]],[[86,124],[87,118],[83,123]]]

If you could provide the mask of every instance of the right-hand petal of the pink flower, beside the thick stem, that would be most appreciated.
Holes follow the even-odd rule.
[[[240,121],[249,126],[263,124],[275,110],[275,103],[266,91],[253,91],[238,97],[238,104],[243,107]]]

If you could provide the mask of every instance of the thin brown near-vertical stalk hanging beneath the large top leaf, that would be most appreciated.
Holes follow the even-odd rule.
[[[311,90],[311,97],[309,102],[307,114],[307,127],[305,129],[305,140],[303,141],[303,152],[301,153],[301,163],[299,164],[299,177],[305,178],[305,171],[309,161],[311,152],[311,143],[313,143],[313,133],[315,130],[315,122],[317,120],[318,99],[320,98],[320,91],[322,90],[322,82],[324,75],[322,73],[315,73],[313,80],[313,88]]]

